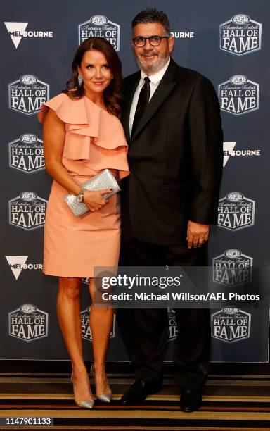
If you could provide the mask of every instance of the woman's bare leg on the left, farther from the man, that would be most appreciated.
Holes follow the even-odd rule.
[[[80,401],[93,399],[89,377],[82,356],[80,290],[80,278],[59,278],[57,297],[58,322],[72,362],[73,387],[77,404]]]

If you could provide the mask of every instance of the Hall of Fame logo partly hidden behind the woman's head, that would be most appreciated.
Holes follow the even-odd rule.
[[[79,45],[89,37],[105,37],[115,51],[120,50],[120,25],[108,20],[106,16],[94,15],[85,23],[79,24]]]

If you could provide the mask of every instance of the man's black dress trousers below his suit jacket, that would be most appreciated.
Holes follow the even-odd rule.
[[[161,246],[137,239],[124,242],[127,266],[207,266],[207,243],[197,249]],[[161,382],[169,321],[167,309],[136,308],[134,313],[134,361],[136,379]],[[176,380],[181,389],[203,387],[210,362],[210,310],[175,310],[178,335],[174,340]]]

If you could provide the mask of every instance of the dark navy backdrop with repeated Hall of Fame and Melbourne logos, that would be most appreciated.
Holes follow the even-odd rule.
[[[269,16],[263,0],[80,0],[1,5],[0,358],[68,359],[56,317],[58,280],[41,273],[51,178],[44,168],[41,104],[65,88],[77,46],[106,37],[124,76],[134,73],[131,20],[146,7],[169,16],[174,60],[212,80],[224,128],[219,221],[212,227],[212,277],[221,287],[252,280],[269,254]],[[88,280],[82,280],[82,338],[91,359]],[[177,335],[168,309],[171,358]],[[211,310],[212,361],[267,362],[269,308]],[[129,310],[118,310],[108,360],[129,361]]]

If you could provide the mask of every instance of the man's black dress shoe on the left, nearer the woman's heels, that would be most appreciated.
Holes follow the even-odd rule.
[[[135,382],[129,386],[129,389],[124,392],[120,402],[124,404],[124,406],[142,403],[148,395],[158,392],[161,386],[160,383],[150,384],[144,380],[135,380]]]

